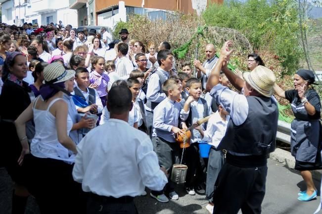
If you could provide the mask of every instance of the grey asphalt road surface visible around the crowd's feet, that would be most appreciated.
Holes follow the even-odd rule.
[[[317,200],[300,202],[297,200],[297,193],[300,188],[305,187],[302,177],[296,171],[284,167],[275,160],[269,159],[268,165],[267,191],[262,204],[262,214],[313,214],[320,202],[320,191]],[[320,181],[315,182],[320,189]],[[208,214],[205,209],[207,201],[204,196],[190,196],[185,193],[182,185],[178,185],[176,190],[180,199],[169,203],[160,203],[152,199],[149,194],[136,198],[139,213]],[[32,200],[30,200],[26,214],[39,214]]]

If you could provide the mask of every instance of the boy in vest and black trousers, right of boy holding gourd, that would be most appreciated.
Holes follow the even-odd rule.
[[[180,112],[180,117],[183,118],[187,127],[190,127],[198,119],[208,116],[212,113],[207,102],[200,96],[202,94],[202,86],[197,78],[190,78],[186,82],[185,90],[189,93],[186,100],[182,100],[184,105]],[[203,124],[206,129],[206,124]],[[200,195],[205,194],[204,183],[206,181],[207,165],[205,160],[199,156],[199,145],[202,136],[197,130],[191,131],[191,146],[186,149],[185,163],[188,166],[185,189],[189,195],[194,195],[195,192]],[[200,161],[198,161],[200,160]]]

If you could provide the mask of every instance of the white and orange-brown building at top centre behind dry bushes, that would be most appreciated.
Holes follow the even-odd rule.
[[[69,5],[78,11],[79,26],[113,28],[118,21],[126,21],[129,13],[147,15],[151,20],[166,19],[174,11],[200,14],[209,2],[223,0],[69,0]]]

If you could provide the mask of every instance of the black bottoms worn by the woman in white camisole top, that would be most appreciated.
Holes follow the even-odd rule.
[[[24,166],[27,189],[42,214],[85,214],[87,194],[74,181],[72,164],[26,155]]]

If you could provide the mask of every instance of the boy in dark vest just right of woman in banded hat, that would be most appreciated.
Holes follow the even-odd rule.
[[[86,103],[89,104],[89,106],[85,108],[76,106],[77,111],[81,113],[101,113],[103,110],[103,105],[98,93],[95,89],[88,87],[90,84],[89,71],[83,67],[77,68],[75,81],[77,82],[77,86],[74,88],[74,94],[81,97],[84,101],[86,101]]]

